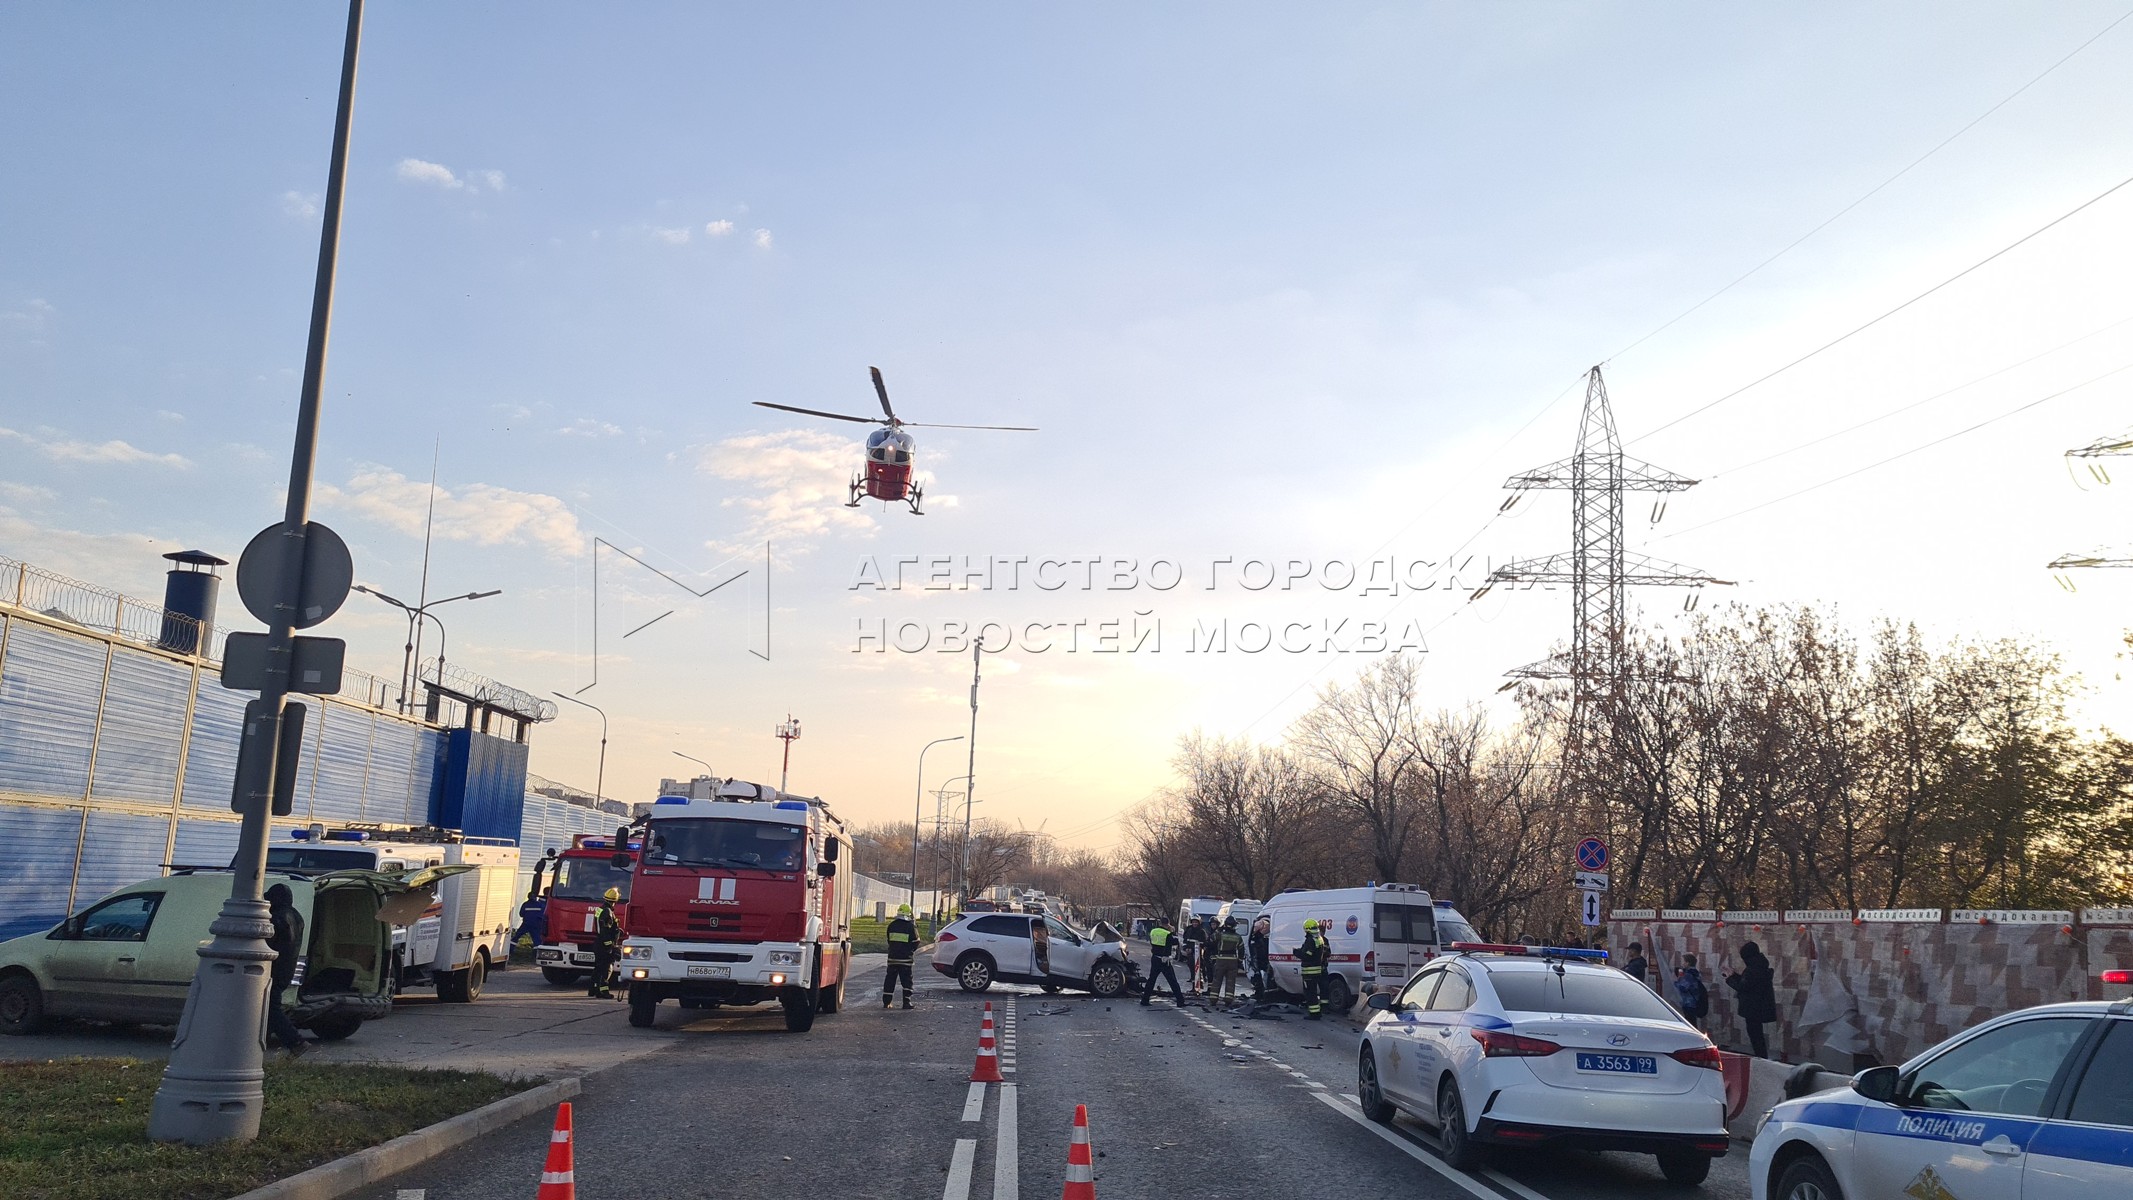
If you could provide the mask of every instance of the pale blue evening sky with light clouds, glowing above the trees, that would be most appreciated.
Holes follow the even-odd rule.
[[[2063,458],[2133,424],[2124,15],[378,0],[314,518],[407,599],[429,522],[429,597],[501,588],[448,659],[604,708],[604,776],[572,703],[531,765],[625,799],[774,780],[791,714],[793,791],[909,821],[996,625],[979,816],[1109,848],[1192,729],[1561,642],[1470,597],[1568,550],[1497,509],[1604,362],[1700,603],[2037,637],[2124,729],[2133,575],[2046,571],[2133,554],[2133,465]],[[0,6],[0,554],[158,599],[279,518],[343,19]],[[845,507],[866,428],[753,401],[866,416],[870,364],[1039,433],[919,428],[926,516]],[[399,676],[384,603],[316,633]]]

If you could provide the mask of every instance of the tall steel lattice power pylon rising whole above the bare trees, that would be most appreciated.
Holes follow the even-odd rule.
[[[1606,382],[1593,367],[1585,375],[1585,413],[1578,418],[1578,448],[1570,458],[1519,471],[1504,482],[1512,492],[1570,492],[1570,552],[1506,563],[1474,593],[1480,599],[1495,584],[1568,584],[1570,654],[1553,654],[1510,671],[1527,680],[1570,680],[1570,746],[1585,740],[1585,725],[1602,699],[1621,684],[1621,650],[1627,625],[1630,586],[1702,588],[1728,584],[1694,567],[1630,554],[1621,539],[1623,492],[1681,492],[1696,480],[1677,475],[1621,452],[1615,409]],[[1506,501],[1517,503],[1517,494]]]

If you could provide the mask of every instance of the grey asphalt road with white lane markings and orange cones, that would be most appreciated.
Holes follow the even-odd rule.
[[[1244,1019],[1156,1002],[996,987],[964,995],[919,961],[919,1002],[883,1010],[879,970],[851,1006],[787,1034],[774,1006],[661,1006],[659,1042],[587,1076],[576,1100],[578,1194],[597,1198],[1020,1200],[1058,1196],[1075,1104],[1090,1113],[1096,1194],[1412,1196],[1423,1200],[1745,1200],[1747,1147],[1698,1191],[1670,1189],[1640,1155],[1523,1151],[1480,1174],[1446,1168],[1421,1125],[1361,1119],[1357,1027]],[[1009,1085],[968,1083],[983,1000]],[[499,1130],[360,1196],[531,1196],[550,1117]]]

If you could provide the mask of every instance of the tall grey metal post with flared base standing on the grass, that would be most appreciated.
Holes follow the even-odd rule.
[[[318,409],[326,377],[326,330],[333,322],[333,266],[341,245],[341,192],[348,175],[348,124],[356,100],[356,47],[363,40],[363,0],[348,0],[348,40],[341,49],[341,96],[333,117],[333,158],[326,168],[326,211],[318,232],[318,279],[311,288],[311,333],[303,354],[303,392],[296,401],[296,437],[288,463],[288,507],[282,514],[286,550],[279,558],[275,595],[279,605],[267,627],[267,686],[260,710],[271,725],[264,733],[269,761],[282,737],[288,703],[290,661],[296,644],[296,610],[303,601],[303,544],[311,520],[311,467],[318,458]],[[292,769],[275,763],[275,774]],[[273,780],[273,774],[267,776]],[[230,859],[230,897],[207,927],[201,966],[186,993],[171,1061],[147,1119],[147,1136],[158,1142],[252,1140],[264,1108],[262,1068],[267,1055],[267,1004],[273,923],[260,889],[267,876],[267,793],[245,797],[237,855]]]

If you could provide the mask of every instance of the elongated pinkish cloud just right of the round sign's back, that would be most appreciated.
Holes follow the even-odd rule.
[[[422,537],[429,482],[388,467],[358,467],[348,486],[318,484],[318,503],[367,516],[397,533]],[[437,537],[478,546],[540,546],[557,558],[584,550],[584,531],[570,505],[544,492],[495,484],[437,488]]]

